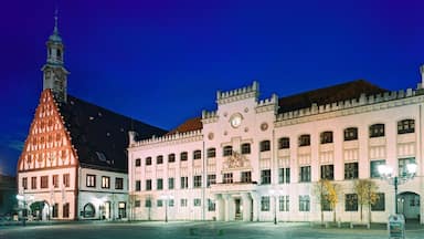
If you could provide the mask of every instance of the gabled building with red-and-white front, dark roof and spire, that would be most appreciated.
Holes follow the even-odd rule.
[[[43,92],[18,162],[22,215],[33,219],[117,219],[128,215],[128,132],[161,128],[67,94],[55,19],[42,67]]]

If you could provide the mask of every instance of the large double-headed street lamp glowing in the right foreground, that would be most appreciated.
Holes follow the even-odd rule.
[[[406,183],[407,180],[415,177],[416,164],[410,163],[406,165],[406,174],[401,176],[393,175],[393,168],[386,165],[380,165],[378,167],[380,176],[382,179],[389,181],[389,184],[394,186],[394,212],[398,214],[398,186]]]

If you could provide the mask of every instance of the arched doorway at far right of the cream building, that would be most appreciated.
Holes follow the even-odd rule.
[[[398,211],[402,214],[406,220],[420,221],[420,195],[405,191],[398,195]]]

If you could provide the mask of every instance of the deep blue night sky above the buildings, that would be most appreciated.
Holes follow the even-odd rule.
[[[262,98],[358,79],[401,90],[424,63],[418,0],[3,1],[0,174],[15,174],[55,6],[68,93],[167,129],[253,80]]]

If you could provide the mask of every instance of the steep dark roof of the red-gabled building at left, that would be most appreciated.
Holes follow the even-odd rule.
[[[137,132],[137,139],[167,133],[72,95],[60,111],[83,167],[128,172],[128,131]]]

